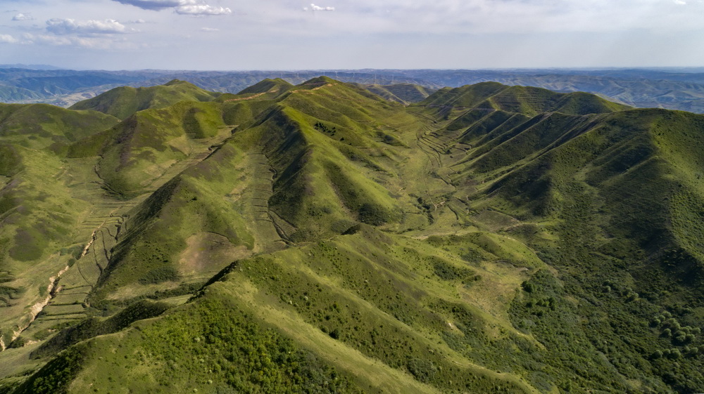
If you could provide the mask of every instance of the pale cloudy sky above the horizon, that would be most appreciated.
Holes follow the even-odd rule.
[[[0,64],[704,66],[704,0],[0,0]]]

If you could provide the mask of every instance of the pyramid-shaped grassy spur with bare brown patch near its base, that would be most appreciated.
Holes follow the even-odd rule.
[[[255,165],[226,144],[153,192],[125,221],[90,300],[202,284],[231,261],[282,244],[275,229],[262,230],[252,213],[262,203],[255,199],[263,186],[253,179],[260,175],[252,172]]]

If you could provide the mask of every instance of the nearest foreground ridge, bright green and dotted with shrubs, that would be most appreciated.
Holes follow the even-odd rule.
[[[509,249],[516,245],[501,237],[477,234],[463,240],[474,257],[441,251],[444,239],[421,242],[389,237],[361,225],[328,242],[239,261],[190,305],[139,324],[139,331],[130,329],[70,350],[76,369],[65,377],[75,379],[69,387],[76,392],[87,386],[115,388],[129,381],[153,390],[228,386],[279,390],[279,385],[298,374],[309,376],[298,384],[316,383],[318,374],[306,372],[315,362],[322,372],[330,373],[331,367],[337,371],[333,376],[338,379],[329,384],[370,393],[535,393],[517,374],[499,374],[467,357],[482,353],[482,343],[508,348],[520,343],[541,353],[534,339],[506,324],[505,310],[492,301],[495,296],[513,297],[527,277],[526,268],[538,270],[541,262],[527,249]],[[507,247],[501,246],[503,242],[509,242]],[[501,258],[512,263],[507,265]],[[482,283],[495,284],[496,292],[481,295],[477,287]],[[467,305],[467,299],[474,301]],[[169,334],[180,327],[189,331]],[[203,329],[207,332],[198,334]],[[233,336],[237,341],[227,340]],[[115,346],[116,341],[126,350],[103,354],[102,349]],[[282,357],[279,350],[284,344],[285,350],[293,351],[289,357]],[[251,353],[248,348],[257,351]],[[290,363],[298,360],[301,351],[314,357],[293,367]],[[146,352],[156,362],[125,369],[124,376],[118,372],[117,380],[114,374],[107,379],[108,375],[95,373],[101,362],[127,365],[123,354],[129,359]],[[202,354],[201,364],[192,362],[194,354]],[[251,369],[250,362],[260,367]],[[287,374],[281,371],[291,368]],[[180,372],[171,372],[174,369]]]

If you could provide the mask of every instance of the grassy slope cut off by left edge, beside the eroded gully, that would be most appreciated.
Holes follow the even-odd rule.
[[[65,163],[49,152],[0,145],[0,348],[8,346],[49,297],[52,279],[81,245],[74,244],[77,216]]]

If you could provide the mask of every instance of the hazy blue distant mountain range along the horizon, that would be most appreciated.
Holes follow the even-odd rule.
[[[39,67],[37,67],[39,68]],[[156,86],[184,79],[208,91],[237,93],[262,79],[300,84],[320,74],[364,85],[415,84],[427,93],[483,81],[536,86],[553,91],[585,91],[634,107],[704,113],[701,69],[608,70],[302,70],[298,72],[72,71],[0,67],[0,101],[51,103],[68,107],[117,86]],[[376,91],[379,88],[375,87]],[[391,97],[391,96],[388,96]],[[415,95],[413,100],[422,96]],[[403,100],[402,100],[403,101]]]

